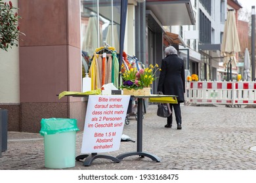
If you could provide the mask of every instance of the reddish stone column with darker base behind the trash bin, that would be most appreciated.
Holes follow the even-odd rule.
[[[41,118],[76,118],[83,127],[80,1],[20,0],[20,130],[39,132]]]

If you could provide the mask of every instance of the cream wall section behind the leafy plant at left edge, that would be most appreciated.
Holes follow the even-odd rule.
[[[3,0],[4,2],[9,2]],[[12,0],[18,7],[18,0]],[[0,50],[0,104],[20,103],[20,78],[18,47]]]

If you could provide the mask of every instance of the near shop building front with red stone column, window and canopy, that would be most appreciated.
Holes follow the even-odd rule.
[[[26,36],[20,37],[18,48],[0,52],[3,65],[0,107],[9,110],[9,131],[38,133],[42,118],[76,118],[78,127],[83,129],[87,102],[77,97],[58,99],[57,95],[63,91],[81,91],[81,51],[85,48],[85,39],[88,42],[88,36],[83,33],[90,16],[98,15],[96,30],[90,31],[96,47],[105,43],[115,45],[114,37],[120,33],[120,3],[112,0],[13,1],[22,17],[20,31]],[[168,18],[170,16],[173,18]],[[161,63],[163,25],[171,25],[171,21],[178,19],[180,25],[194,24],[190,1],[128,1],[123,50],[137,56],[145,65]],[[108,33],[110,25],[113,30]],[[156,86],[153,87],[156,90]]]

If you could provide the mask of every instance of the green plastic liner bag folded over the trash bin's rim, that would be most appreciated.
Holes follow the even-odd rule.
[[[66,118],[48,118],[41,120],[41,130],[39,133],[44,135],[53,135],[67,131],[79,131],[76,119]]]

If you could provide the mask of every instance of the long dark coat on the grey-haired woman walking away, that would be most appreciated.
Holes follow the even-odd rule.
[[[184,61],[176,54],[166,56],[161,61],[158,92],[165,95],[177,95],[179,103],[184,102],[185,71]]]

